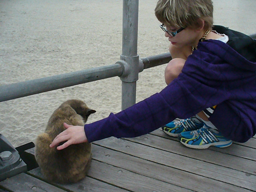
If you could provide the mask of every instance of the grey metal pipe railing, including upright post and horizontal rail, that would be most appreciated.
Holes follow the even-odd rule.
[[[39,78],[0,86],[0,102],[42,92],[119,76],[122,80],[122,110],[135,104],[138,73],[171,60],[170,53],[140,59],[137,55],[138,1],[123,0],[121,60],[109,66]],[[256,39],[256,33],[250,35]]]

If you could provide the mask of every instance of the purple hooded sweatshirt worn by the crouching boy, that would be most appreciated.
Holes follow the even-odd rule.
[[[199,42],[197,48],[182,73],[164,90],[117,114],[85,124],[88,141],[145,135],[175,118],[190,118],[214,105],[217,107],[209,120],[220,133],[237,142],[253,137],[256,63],[219,40]]]

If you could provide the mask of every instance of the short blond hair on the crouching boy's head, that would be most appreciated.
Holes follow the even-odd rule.
[[[204,28],[213,26],[213,2],[211,0],[159,0],[156,4],[157,19],[173,27],[197,28],[204,20]]]

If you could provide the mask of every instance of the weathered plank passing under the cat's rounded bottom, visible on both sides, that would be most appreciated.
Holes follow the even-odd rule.
[[[28,172],[29,174],[36,176],[40,178],[41,180],[45,180],[43,177],[40,168],[33,169]],[[107,183],[104,183],[102,181],[96,180],[94,178],[86,177],[83,180],[81,180],[78,183],[73,183],[73,184],[67,184],[67,185],[62,185],[62,184],[57,184],[53,183],[53,185],[57,187],[61,187],[62,189],[66,189],[69,191],[73,192],[85,192],[85,191],[90,191],[90,192],[108,192],[108,191],[115,191],[115,192],[127,192],[127,190],[120,189],[118,187],[115,187],[113,185],[109,185]]]

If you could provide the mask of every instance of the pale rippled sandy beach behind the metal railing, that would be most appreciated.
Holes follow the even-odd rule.
[[[140,57],[168,52],[154,16],[157,0],[140,0]],[[214,24],[256,33],[255,0],[213,0]],[[114,64],[122,52],[121,0],[1,0],[0,85]],[[137,81],[139,102],[166,85],[166,65],[146,69]],[[121,80],[108,78],[0,103],[0,133],[14,147],[34,141],[64,101],[80,99],[97,112],[87,123],[121,110]]]

